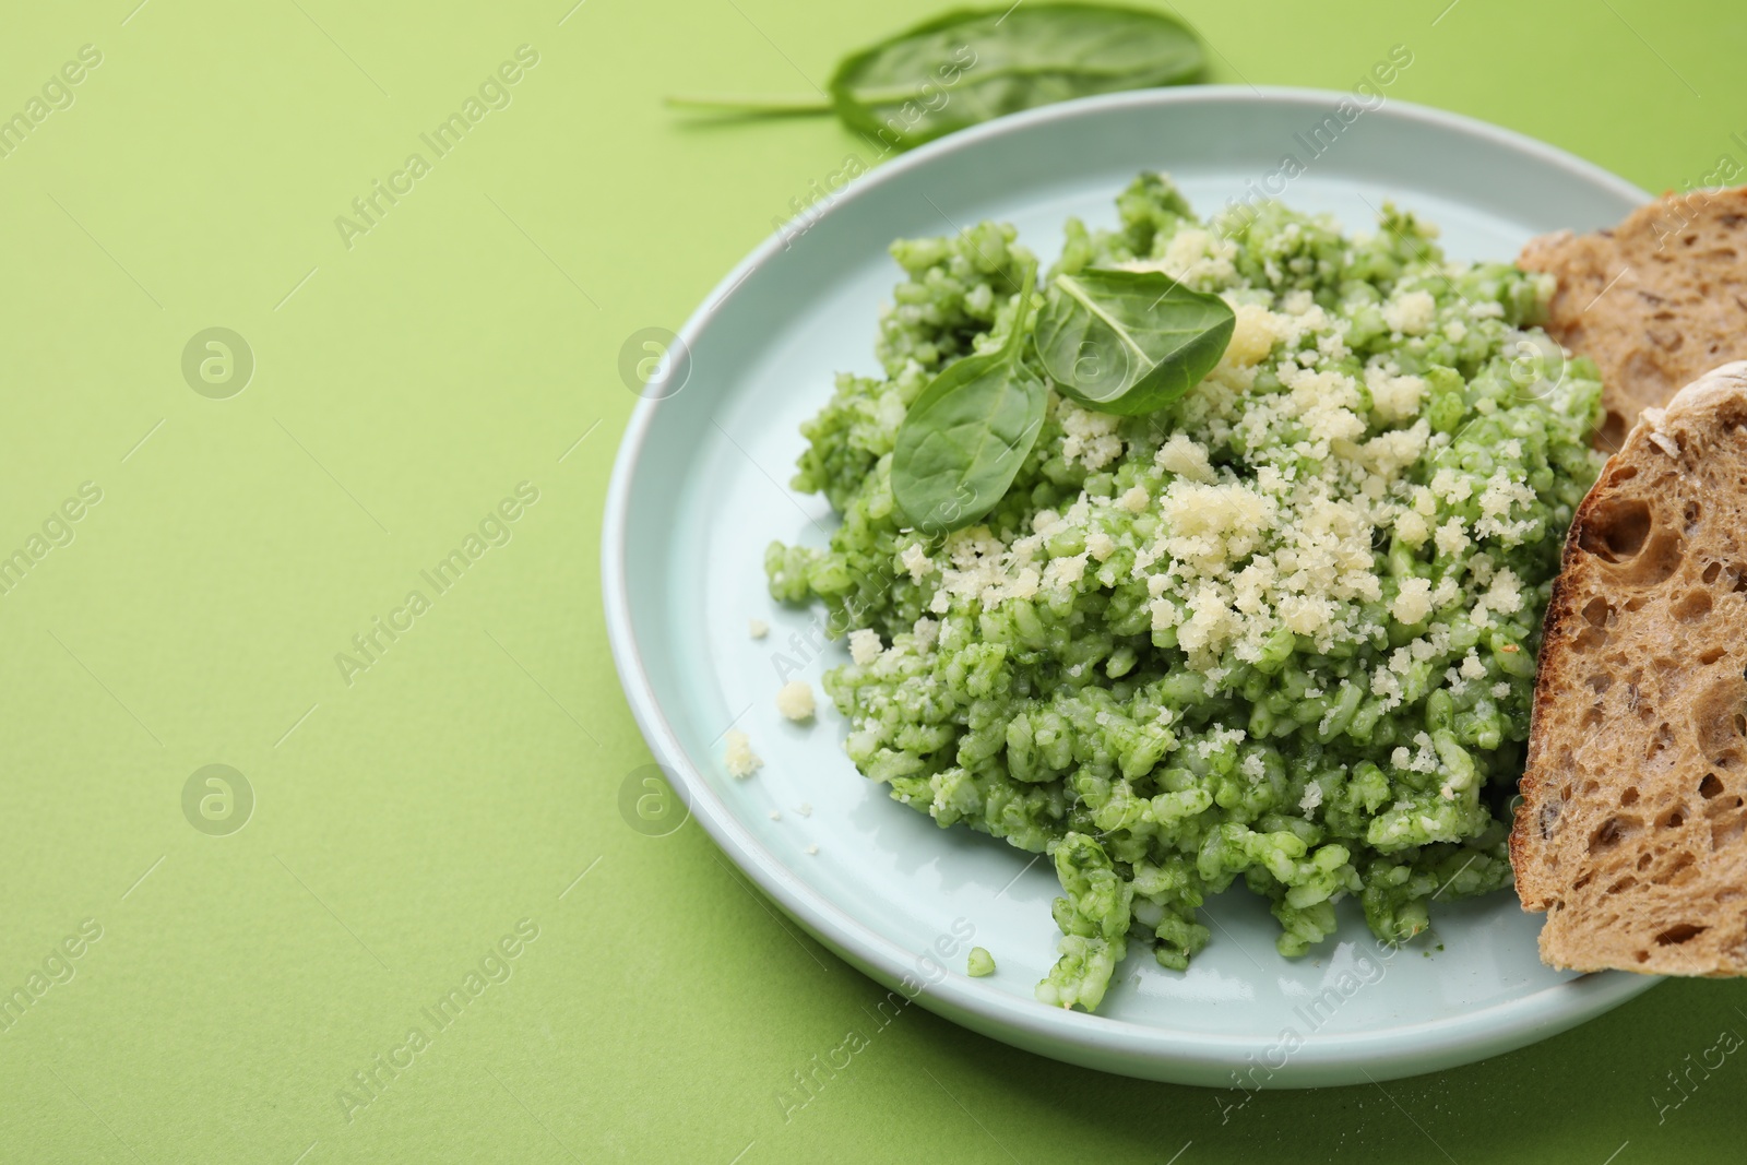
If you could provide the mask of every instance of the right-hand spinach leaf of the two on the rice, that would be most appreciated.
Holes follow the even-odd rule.
[[[1137,416],[1181,398],[1212,372],[1237,316],[1218,295],[1158,271],[1055,276],[1036,346],[1057,391],[1099,412]]]

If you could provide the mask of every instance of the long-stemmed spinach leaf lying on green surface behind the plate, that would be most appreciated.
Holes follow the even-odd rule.
[[[907,150],[1003,114],[1193,80],[1202,49],[1160,12],[1108,3],[956,9],[844,58],[830,96],[673,96],[753,115],[835,112],[872,143]]]

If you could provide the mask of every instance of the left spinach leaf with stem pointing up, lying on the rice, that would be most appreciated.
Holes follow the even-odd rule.
[[[898,426],[893,500],[926,534],[989,514],[1038,442],[1050,389],[1020,362],[1034,283],[1027,269],[1006,342],[942,369]]]

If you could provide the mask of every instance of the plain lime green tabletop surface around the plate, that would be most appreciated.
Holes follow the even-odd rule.
[[[784,1120],[882,992],[695,823],[618,812],[648,751],[599,604],[617,360],[854,145],[659,98],[807,93],[936,5],[136,2],[14,5],[0,35],[0,117],[101,52],[0,157],[0,555],[101,491],[0,596],[0,992],[101,927],[0,1031],[0,1160],[1740,1160],[1747,1055],[1700,1067],[1747,1034],[1738,982],[1232,1111],[910,1010]],[[1391,96],[1647,189],[1747,162],[1747,7],[1445,5],[1181,10],[1212,80],[1349,87],[1406,44]],[[335,217],[524,44],[512,103],[348,248]],[[255,358],[224,400],[182,372],[210,327]],[[521,482],[514,538],[435,597],[419,571]],[[348,685],[335,653],[411,589],[432,610]],[[227,837],[183,814],[210,763],[255,795]],[[421,1010],[517,924],[510,976],[437,1031]]]

